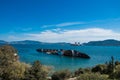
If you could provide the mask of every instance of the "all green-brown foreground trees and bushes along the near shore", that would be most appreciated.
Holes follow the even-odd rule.
[[[56,71],[48,78],[50,69],[35,61],[32,65],[19,61],[12,46],[0,47],[0,80],[120,80],[120,62],[111,57],[109,62],[75,72]]]

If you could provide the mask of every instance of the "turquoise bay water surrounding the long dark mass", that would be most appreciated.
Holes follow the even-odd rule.
[[[115,46],[70,46],[60,44],[41,44],[41,45],[13,45],[18,49],[20,60],[26,63],[32,63],[40,60],[43,65],[52,66],[54,70],[70,69],[76,70],[80,67],[92,67],[96,64],[102,64],[110,60],[114,56],[116,60],[120,60],[120,47]],[[64,57],[57,55],[48,55],[38,53],[38,48],[50,49],[74,49],[88,54],[91,59]]]

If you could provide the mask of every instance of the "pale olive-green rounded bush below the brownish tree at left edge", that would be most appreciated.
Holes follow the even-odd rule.
[[[8,68],[4,69],[5,80],[22,80],[24,79],[24,72],[28,69],[28,65],[21,63],[19,61],[14,62],[12,65],[9,65]]]

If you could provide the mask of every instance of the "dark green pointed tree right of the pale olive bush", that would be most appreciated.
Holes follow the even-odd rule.
[[[42,67],[39,61],[35,61],[32,67],[25,72],[25,80],[46,80],[47,72]]]

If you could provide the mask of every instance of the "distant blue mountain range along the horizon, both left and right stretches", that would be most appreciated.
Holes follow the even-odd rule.
[[[33,41],[33,40],[24,40],[24,41],[11,41],[7,42],[4,40],[0,40],[0,44],[70,44],[70,43],[43,43],[39,41]],[[88,43],[81,44],[83,46],[120,46],[120,41],[114,40],[114,39],[107,39],[103,41],[90,41]]]

